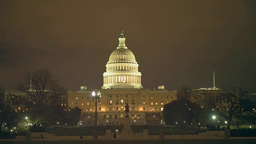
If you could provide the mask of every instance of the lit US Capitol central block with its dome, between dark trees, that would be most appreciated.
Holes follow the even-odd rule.
[[[158,86],[157,90],[143,89],[138,63],[131,50],[126,47],[123,29],[119,45],[109,57],[106,72],[103,73],[101,97],[97,104],[97,125],[123,124],[125,106],[129,105],[129,116],[132,125],[164,125],[161,111],[164,104],[177,100],[177,91],[165,90]],[[98,101],[98,99],[97,99]],[[94,101],[95,102],[95,101]],[[82,115],[78,125],[95,125],[95,103],[92,91],[81,86],[78,91],[68,91],[68,106],[78,106]]]

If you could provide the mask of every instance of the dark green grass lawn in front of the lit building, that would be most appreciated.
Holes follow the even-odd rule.
[[[132,131],[134,133],[140,133],[143,132],[144,126],[131,126]],[[111,131],[114,132],[118,130],[119,132],[122,130],[121,126],[111,126]],[[150,135],[158,135],[160,130],[164,130],[166,135],[179,135],[183,134],[183,132],[180,132],[180,128],[177,127],[168,127],[168,126],[148,126],[148,133]],[[48,130],[48,133],[56,134],[56,136],[92,136],[92,132],[94,131],[93,126],[88,127],[80,127],[80,128],[66,128],[66,127],[55,127],[50,128]],[[106,132],[106,126],[98,126],[97,131],[99,135],[105,135]],[[198,129],[196,128],[188,128],[186,129],[186,134],[198,134]]]

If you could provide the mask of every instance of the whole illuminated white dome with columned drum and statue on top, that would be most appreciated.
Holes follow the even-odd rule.
[[[143,88],[141,85],[141,73],[138,72],[138,63],[135,56],[126,46],[123,29],[119,45],[109,57],[106,64],[106,72],[103,74],[102,89],[110,88]]]

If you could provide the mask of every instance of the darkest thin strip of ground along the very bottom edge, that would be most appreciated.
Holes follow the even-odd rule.
[[[256,139],[180,139],[180,140],[0,140],[0,144],[256,144]]]

